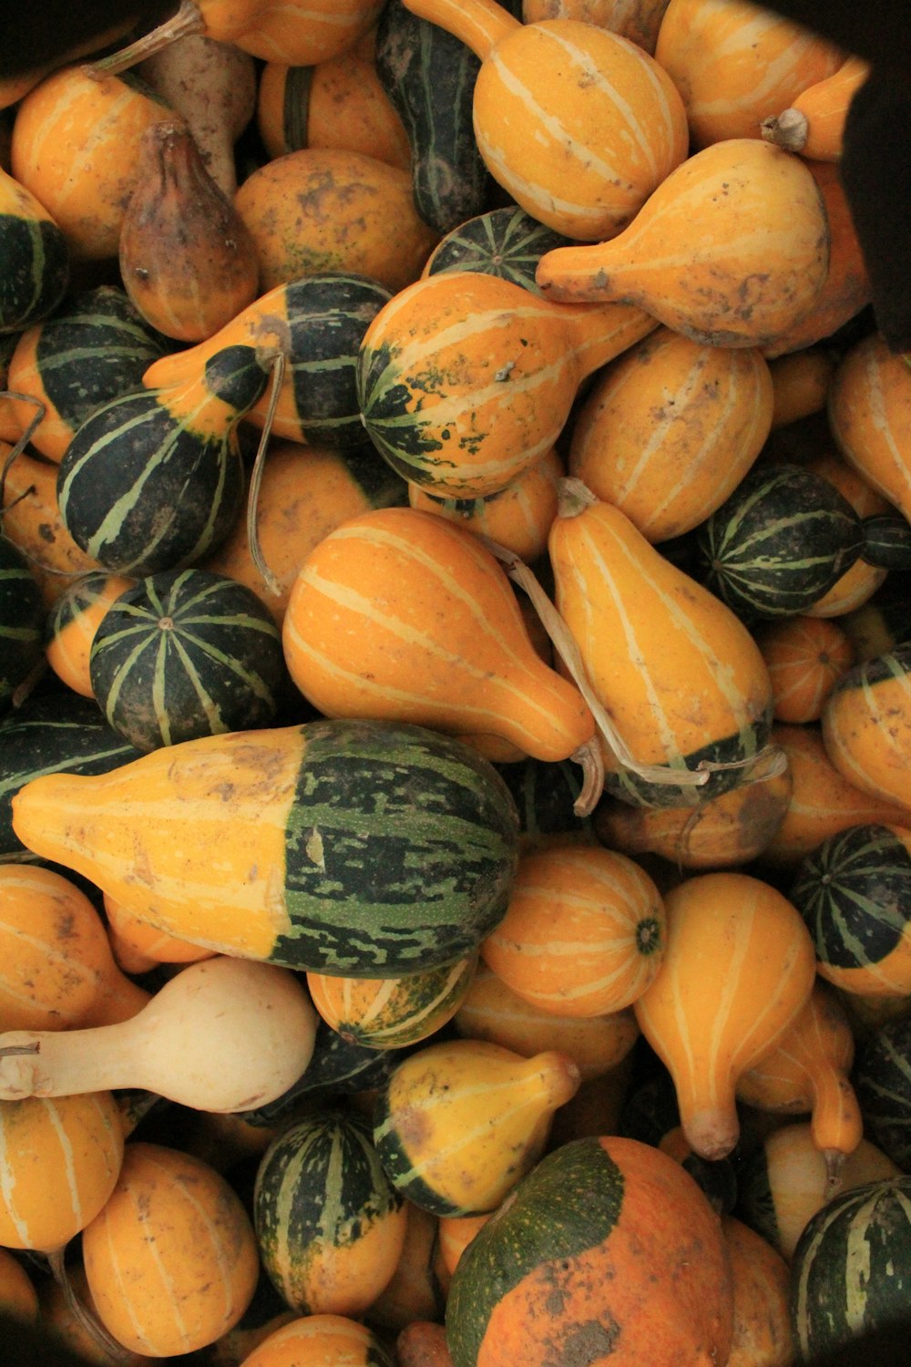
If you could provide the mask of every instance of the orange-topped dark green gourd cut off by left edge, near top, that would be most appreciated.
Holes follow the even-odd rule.
[[[52,313],[70,283],[70,243],[36,195],[0,167],[0,332]]]

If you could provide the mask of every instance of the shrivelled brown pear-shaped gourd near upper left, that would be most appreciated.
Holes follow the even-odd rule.
[[[183,123],[146,128],[138,163],[117,241],[120,276],[146,323],[201,342],[255,299],[257,249]]]

